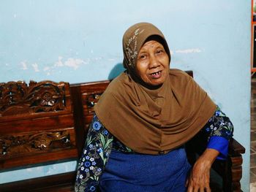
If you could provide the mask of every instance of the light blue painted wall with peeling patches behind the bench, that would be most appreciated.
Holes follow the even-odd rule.
[[[171,67],[195,80],[233,121],[246,147],[241,181],[249,191],[249,0],[1,1],[0,82],[105,80],[122,62],[121,38],[154,23],[173,51]],[[1,172],[0,183],[75,169],[75,162]]]

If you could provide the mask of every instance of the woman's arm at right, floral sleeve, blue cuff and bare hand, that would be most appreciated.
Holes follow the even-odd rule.
[[[187,180],[188,191],[211,191],[210,169],[216,158],[225,159],[228,141],[233,136],[233,124],[219,107],[202,129],[208,137],[206,150],[195,162]]]

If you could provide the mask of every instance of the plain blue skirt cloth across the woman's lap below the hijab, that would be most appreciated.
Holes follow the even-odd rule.
[[[112,150],[99,187],[102,192],[187,191],[185,183],[190,168],[184,147],[165,155]]]

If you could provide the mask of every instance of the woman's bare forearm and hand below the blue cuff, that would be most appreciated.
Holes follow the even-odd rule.
[[[209,185],[210,169],[218,155],[219,151],[206,149],[197,161],[195,161],[186,183],[188,192],[211,191]]]

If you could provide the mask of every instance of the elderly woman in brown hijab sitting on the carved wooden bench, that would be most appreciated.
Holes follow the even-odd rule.
[[[94,107],[75,191],[211,191],[216,158],[227,155],[229,118],[185,72],[170,69],[164,35],[150,23],[128,28],[124,68]],[[184,144],[208,145],[193,167]]]

